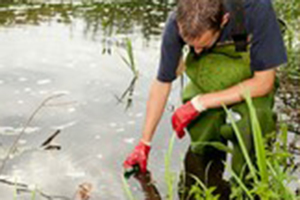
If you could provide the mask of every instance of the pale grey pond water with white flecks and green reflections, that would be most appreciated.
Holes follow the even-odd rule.
[[[167,1],[138,2],[0,7],[2,161],[35,109],[48,97],[63,94],[48,101],[25,129],[2,169],[1,200],[12,199],[16,188],[20,199],[30,199],[35,188],[37,199],[72,199],[86,182],[93,187],[90,199],[127,199],[122,162],[141,135],[160,34],[173,8]],[[139,78],[133,96],[120,101],[133,78],[122,60],[127,37]],[[167,190],[162,177],[170,117],[179,95],[178,80],[149,162],[162,194]],[[57,130],[53,141],[42,146]],[[175,142],[171,170],[179,172],[188,144],[188,138]],[[136,198],[144,199],[138,182],[130,184]]]

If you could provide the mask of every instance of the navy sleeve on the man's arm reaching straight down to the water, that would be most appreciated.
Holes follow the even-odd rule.
[[[162,37],[160,63],[157,79],[172,82],[176,79],[176,69],[182,56],[184,41],[179,35],[178,26],[173,12],[166,23]]]

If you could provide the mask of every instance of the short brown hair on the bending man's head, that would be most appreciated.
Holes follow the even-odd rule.
[[[196,39],[207,30],[221,29],[223,0],[178,0],[176,20],[186,39]]]

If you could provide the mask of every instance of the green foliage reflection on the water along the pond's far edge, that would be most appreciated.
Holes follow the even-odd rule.
[[[0,25],[13,26],[56,20],[69,24],[74,18],[83,19],[85,33],[105,36],[141,32],[144,38],[161,34],[162,26],[174,4],[168,1],[125,1],[93,5],[7,6],[0,12]],[[0,7],[1,8],[1,7]],[[136,30],[140,27],[139,30]]]

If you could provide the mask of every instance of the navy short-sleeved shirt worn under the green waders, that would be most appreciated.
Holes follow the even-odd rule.
[[[226,5],[225,5],[226,7]],[[229,7],[226,7],[230,10]],[[252,35],[250,59],[252,71],[263,71],[287,62],[287,54],[280,27],[270,0],[245,0],[245,28]],[[229,20],[222,30],[219,41],[231,40],[234,21]],[[173,12],[166,23],[161,45],[161,58],[157,79],[172,82],[185,42],[181,38]]]

